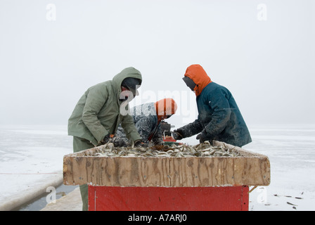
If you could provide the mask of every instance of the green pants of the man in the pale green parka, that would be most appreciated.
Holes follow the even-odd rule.
[[[73,152],[77,153],[80,150],[86,150],[89,148],[94,148],[94,145],[86,140],[86,139],[81,139],[77,136],[73,137]],[[81,198],[82,198],[82,211],[87,211],[88,210],[88,204],[89,204],[89,198],[88,198],[88,186],[87,184],[83,184],[79,186],[80,188],[80,193],[81,193]]]

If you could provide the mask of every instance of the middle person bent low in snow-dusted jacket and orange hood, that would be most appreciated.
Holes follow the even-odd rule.
[[[177,104],[172,98],[163,98],[155,103],[145,103],[131,108],[131,116],[141,141],[155,145],[163,144],[163,134],[160,122],[176,113]],[[118,127],[113,138],[115,146],[129,146],[129,141],[122,127]]]

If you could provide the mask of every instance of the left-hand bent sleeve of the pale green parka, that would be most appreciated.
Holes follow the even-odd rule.
[[[89,129],[91,134],[95,137],[96,141],[100,143],[100,141],[102,141],[108,134],[108,131],[98,120],[97,115],[105,104],[108,96],[105,90],[101,90],[97,86],[89,89],[89,92],[86,95],[86,103],[82,113],[82,121]]]

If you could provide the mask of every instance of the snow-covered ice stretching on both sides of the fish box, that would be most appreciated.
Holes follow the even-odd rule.
[[[243,148],[271,162],[271,184],[250,193],[249,210],[315,210],[315,124],[249,129],[253,141]],[[195,136],[182,142],[198,143]],[[0,126],[0,210],[60,184],[68,153],[66,126]]]

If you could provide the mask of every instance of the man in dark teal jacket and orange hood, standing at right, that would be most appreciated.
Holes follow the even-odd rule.
[[[183,80],[195,92],[198,119],[174,130],[174,139],[200,133],[197,136],[200,143],[217,140],[241,147],[252,141],[231,92],[212,82],[201,65],[189,66]]]

